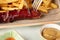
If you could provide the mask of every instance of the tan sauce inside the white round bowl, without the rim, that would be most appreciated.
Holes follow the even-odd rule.
[[[42,31],[42,36],[47,40],[60,40],[60,30],[55,28],[45,28]]]

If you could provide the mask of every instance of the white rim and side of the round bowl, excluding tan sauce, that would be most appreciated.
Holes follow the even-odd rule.
[[[41,40],[47,40],[47,39],[45,39],[45,38],[42,36],[42,31],[43,31],[45,28],[54,28],[54,29],[60,30],[60,26],[57,25],[57,24],[46,24],[46,25],[42,26],[42,27],[40,28],[40,39],[41,39]]]

